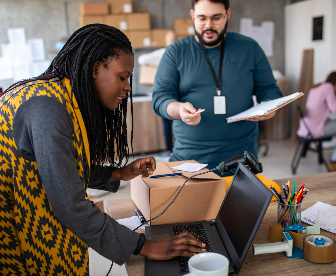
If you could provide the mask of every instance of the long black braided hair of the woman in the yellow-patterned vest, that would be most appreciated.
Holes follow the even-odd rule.
[[[128,97],[116,110],[103,108],[95,96],[92,78],[93,66],[97,61],[107,64],[109,57],[118,56],[120,51],[134,56],[131,43],[124,33],[104,24],[86,25],[72,34],[44,73],[19,81],[4,93],[31,81],[68,78],[87,130],[91,168],[106,162],[111,167],[123,167],[129,156],[126,128]],[[132,75],[130,86],[133,152]]]

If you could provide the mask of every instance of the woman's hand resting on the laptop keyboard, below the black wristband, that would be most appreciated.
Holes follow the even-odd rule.
[[[205,252],[205,244],[200,242],[190,232],[161,238],[155,241],[145,240],[139,253],[149,260],[170,260],[179,256],[192,257]]]

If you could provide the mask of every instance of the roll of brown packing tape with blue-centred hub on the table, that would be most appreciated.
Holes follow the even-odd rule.
[[[327,236],[310,234],[303,238],[303,258],[318,264],[335,261],[336,241]]]

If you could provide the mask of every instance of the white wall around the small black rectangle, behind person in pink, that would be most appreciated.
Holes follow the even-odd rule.
[[[324,16],[323,40],[312,40],[312,18]],[[297,89],[302,51],[314,49],[313,83],[336,69],[336,0],[307,0],[285,7],[285,73]]]

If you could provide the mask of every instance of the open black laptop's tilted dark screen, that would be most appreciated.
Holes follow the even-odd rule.
[[[216,218],[218,232],[238,271],[271,197],[269,189],[240,164]]]

